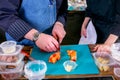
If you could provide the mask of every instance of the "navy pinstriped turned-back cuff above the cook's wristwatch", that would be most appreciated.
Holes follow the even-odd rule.
[[[19,41],[23,39],[25,34],[28,33],[31,29],[32,27],[30,27],[30,25],[19,19],[10,25],[7,32],[15,40]]]

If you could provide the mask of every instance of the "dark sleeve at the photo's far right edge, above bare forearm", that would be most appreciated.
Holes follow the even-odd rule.
[[[116,0],[115,5],[115,23],[111,33],[120,37],[120,0]]]

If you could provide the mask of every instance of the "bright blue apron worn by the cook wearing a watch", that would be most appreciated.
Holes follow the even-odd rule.
[[[23,0],[19,13],[21,18],[39,32],[51,34],[52,26],[56,21],[56,0]],[[6,33],[6,39],[14,40],[8,33]],[[35,45],[28,39],[23,39],[17,43],[29,46]]]

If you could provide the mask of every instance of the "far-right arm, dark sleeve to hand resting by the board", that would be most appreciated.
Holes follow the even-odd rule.
[[[97,45],[94,50],[97,50],[97,52],[109,52],[110,47],[113,43],[117,41],[117,39],[120,37],[120,0],[116,0],[115,4],[115,22],[112,25],[114,28],[111,30],[111,34],[107,38],[104,44]]]

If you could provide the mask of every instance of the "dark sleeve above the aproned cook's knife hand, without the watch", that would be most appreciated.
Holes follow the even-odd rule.
[[[60,8],[58,9],[57,21],[61,22],[64,26],[67,20],[67,8],[68,8],[67,0],[63,0]]]

